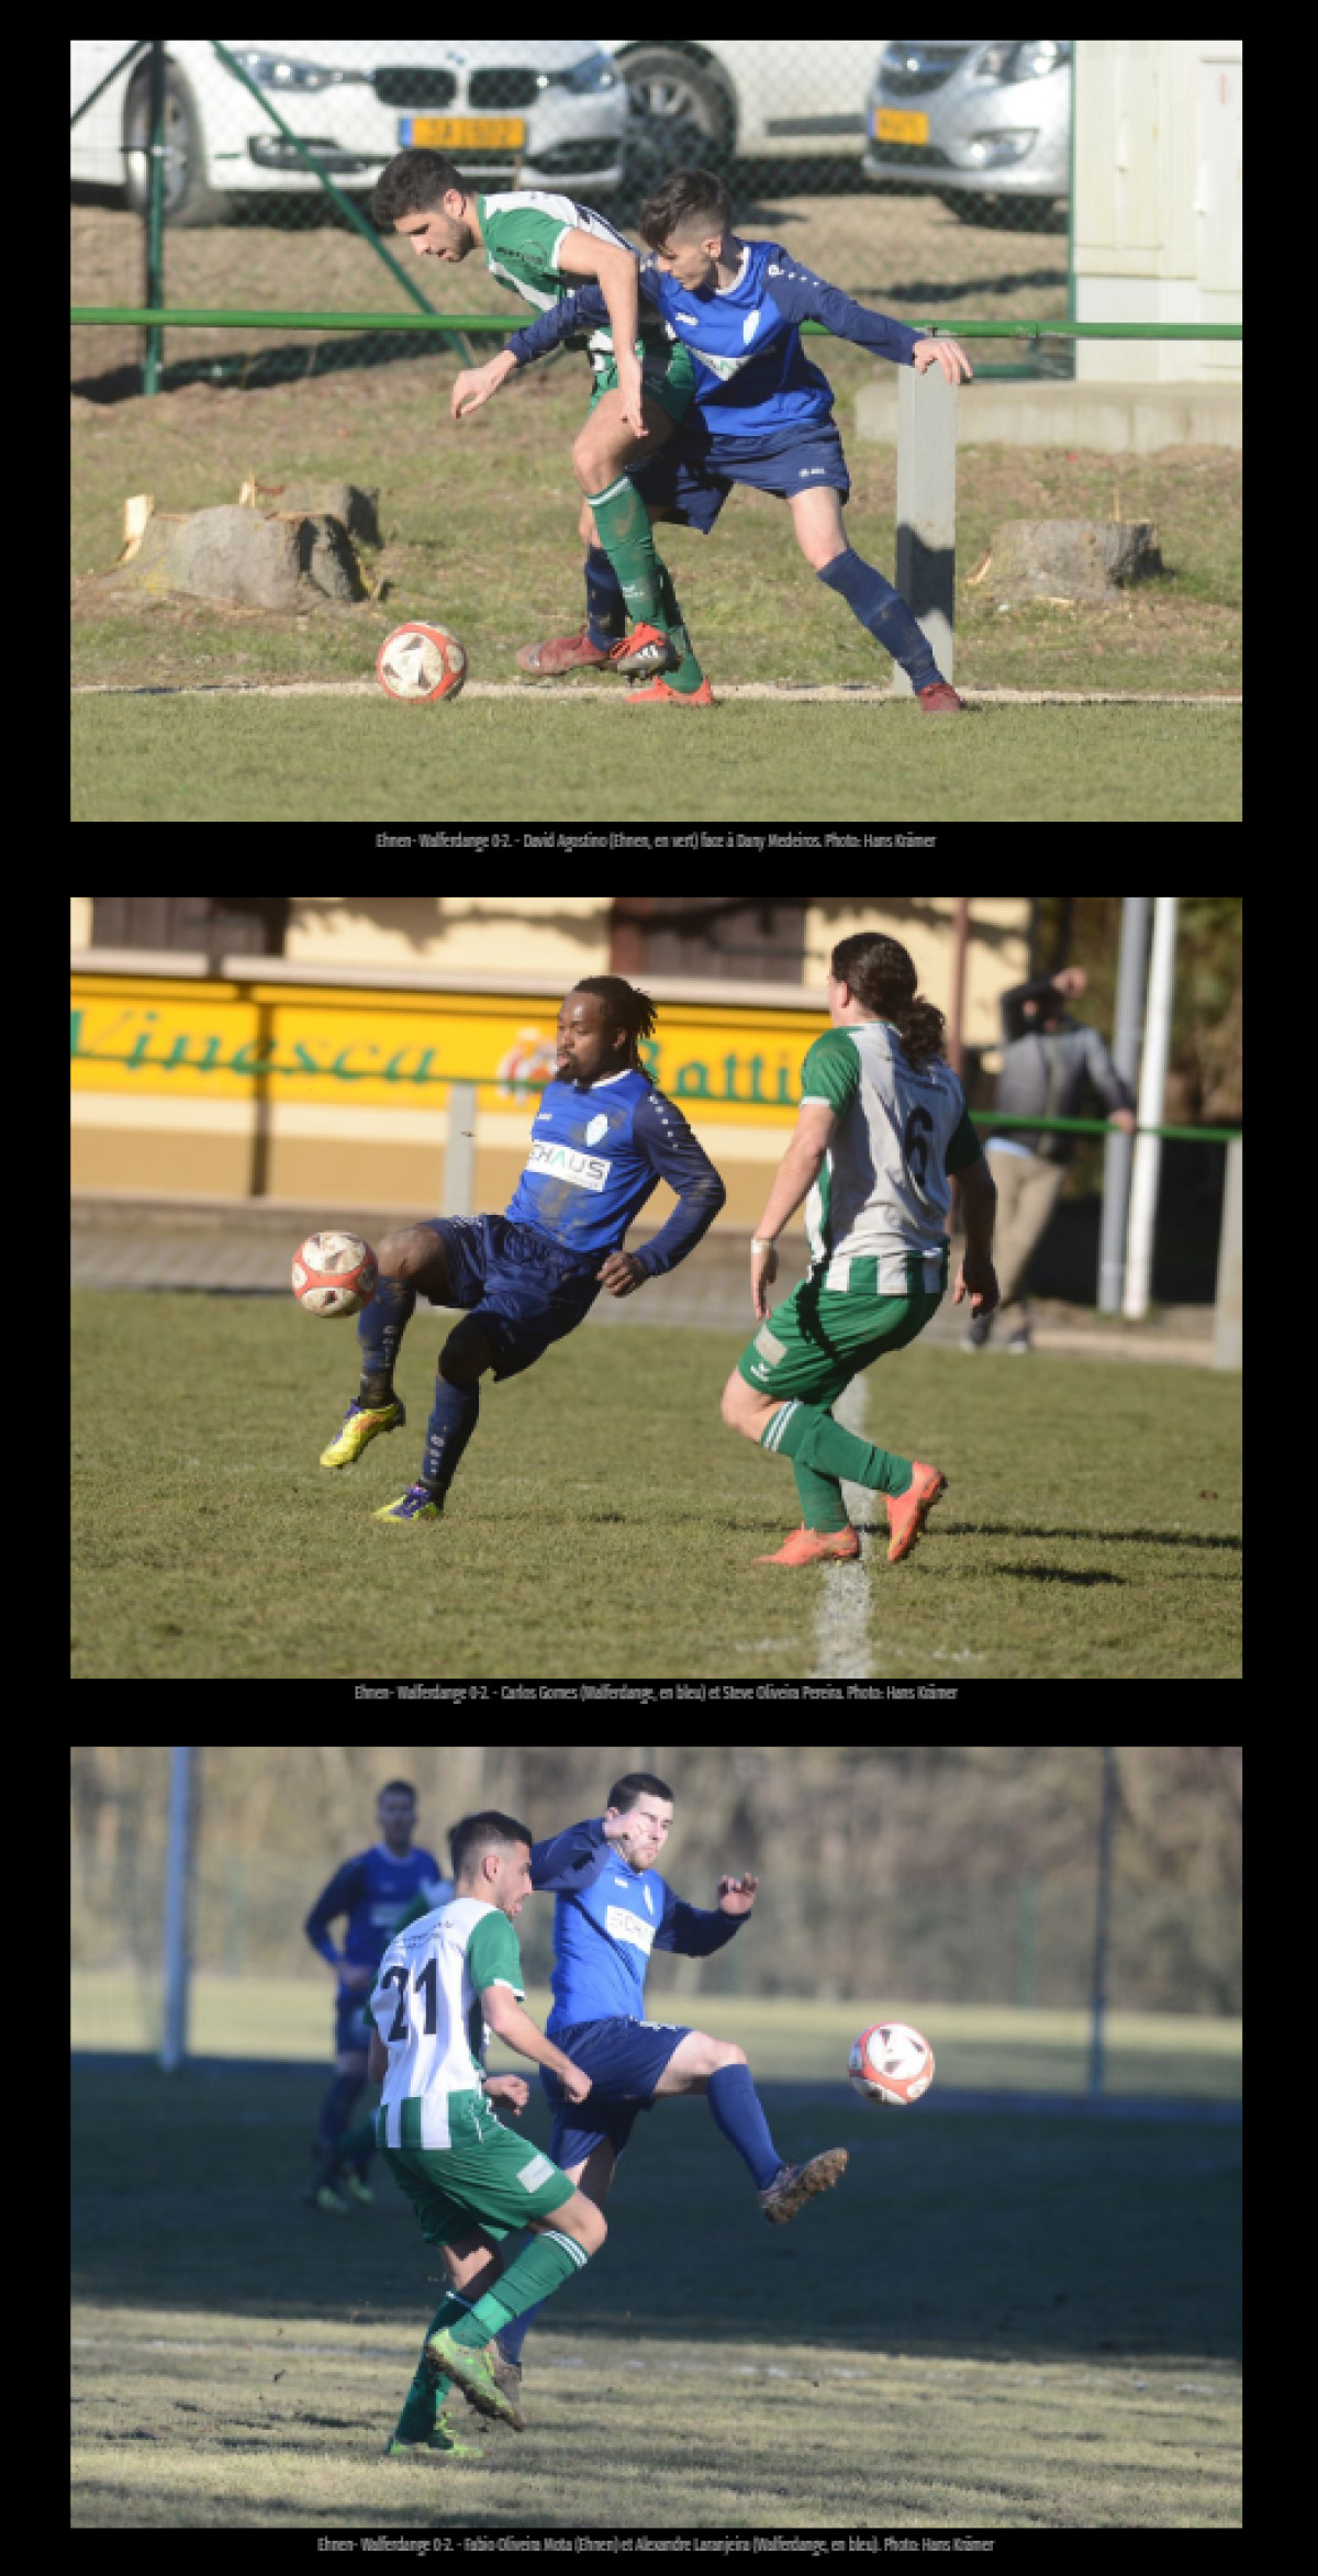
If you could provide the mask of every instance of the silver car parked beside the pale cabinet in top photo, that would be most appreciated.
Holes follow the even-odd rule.
[[[1071,193],[1071,44],[898,39],[865,111],[865,178],[924,188],[970,224],[994,198],[1043,214]]]

